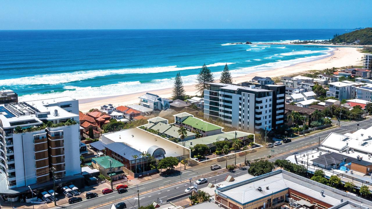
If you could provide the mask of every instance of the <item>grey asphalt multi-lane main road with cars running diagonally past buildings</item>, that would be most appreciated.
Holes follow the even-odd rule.
[[[360,125],[359,128],[368,128],[368,127],[371,126],[371,122],[372,122],[372,118],[367,119],[367,120],[363,120],[363,121],[358,121],[358,122],[353,122],[353,121],[352,122],[341,122],[340,127],[333,128],[333,129],[323,131],[323,132],[319,132],[317,134],[312,134],[312,135],[309,135],[309,136],[305,136],[305,137],[293,140],[290,143],[279,145],[279,146],[274,147],[274,148],[260,149],[257,152],[247,154],[246,157],[247,157],[247,160],[252,160],[252,159],[256,159],[256,158],[267,157],[267,155],[278,156],[278,155],[280,155],[284,152],[305,151],[307,149],[317,147],[318,143],[322,142],[331,132],[335,132],[335,133],[338,133],[338,134],[345,134],[347,132],[355,132],[355,131],[357,131],[357,125],[356,125],[357,123],[359,123],[359,125]],[[301,147],[304,147],[304,146],[307,146],[307,145],[310,146],[311,144],[313,144],[313,146],[300,150]],[[271,149],[274,150],[274,152],[272,152]],[[279,158],[286,158],[288,155],[291,155],[291,153],[280,156]],[[275,160],[275,159],[276,158],[270,158],[270,161]],[[234,164],[234,160],[235,159],[228,160],[228,164]],[[244,156],[237,157],[236,162],[237,162],[237,164],[244,163]],[[225,163],[226,162],[223,161],[220,164],[224,167]],[[188,182],[188,180],[192,177],[197,177],[201,174],[211,172],[211,170],[209,168],[209,166],[211,164],[214,164],[214,163],[206,163],[206,164],[200,165],[198,167],[193,167],[191,169],[182,171],[182,175],[181,175],[182,180]],[[243,175],[245,173],[247,173],[247,171],[237,170],[233,174],[237,175],[237,176],[240,176],[240,175]],[[221,182],[221,181],[224,181],[226,175],[227,174],[224,173],[224,174],[220,174],[220,175],[215,176],[215,177],[209,177],[207,179],[208,180],[213,180],[213,181],[216,179],[216,182]],[[132,185],[128,189],[128,192],[124,193],[124,194],[118,194],[114,191],[113,193],[110,193],[110,194],[105,194],[105,195],[99,194],[100,195],[99,197],[96,197],[96,198],[93,198],[93,199],[90,199],[90,200],[84,199],[83,202],[75,203],[75,204],[72,204],[72,205],[66,204],[64,206],[65,206],[65,208],[68,208],[68,209],[91,208],[91,207],[94,207],[96,205],[104,204],[104,203],[107,203],[107,202],[110,202],[110,201],[113,201],[113,200],[119,201],[122,197],[135,195],[135,194],[137,194],[137,188],[140,190],[140,193],[143,193],[143,192],[146,192],[148,190],[156,189],[156,188],[164,186],[164,185],[169,185],[169,184],[179,182],[181,177],[180,177],[180,175],[170,176],[170,177],[160,177],[160,178],[157,178],[157,179],[144,181],[143,183],[140,183],[138,185]],[[195,181],[192,181],[192,182],[195,182]],[[207,184],[204,184],[203,186],[206,186],[206,185]],[[175,186],[167,187],[165,189],[156,190],[155,192],[149,192],[149,193],[140,195],[140,205],[148,205],[148,204],[152,203],[153,201],[156,202],[157,198],[159,198],[159,199],[163,200],[163,202],[165,202],[167,198],[174,197],[174,196],[177,196],[179,194],[182,194],[184,192],[184,190],[189,186],[190,186],[189,183],[182,183],[182,184],[177,184]],[[138,198],[137,197],[133,197],[131,199],[125,200],[125,203],[127,204],[127,208],[138,208]],[[103,208],[108,208],[108,207],[103,207]]]

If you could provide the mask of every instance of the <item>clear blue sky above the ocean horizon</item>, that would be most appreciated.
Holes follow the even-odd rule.
[[[0,29],[356,28],[371,0],[1,0]]]

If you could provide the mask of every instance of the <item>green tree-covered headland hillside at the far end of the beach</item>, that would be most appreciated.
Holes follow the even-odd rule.
[[[372,28],[354,30],[342,35],[336,34],[331,41],[334,43],[346,42],[346,44],[351,44],[357,40],[360,41],[358,43],[359,45],[372,45]]]

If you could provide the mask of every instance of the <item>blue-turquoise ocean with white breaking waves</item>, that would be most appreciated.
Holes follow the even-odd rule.
[[[15,90],[20,100],[164,89],[173,85],[177,72],[185,85],[195,83],[204,63],[219,78],[225,63],[235,77],[318,59],[332,49],[285,43],[345,32],[348,29],[0,30],[0,88]],[[253,44],[230,44],[246,41]]]

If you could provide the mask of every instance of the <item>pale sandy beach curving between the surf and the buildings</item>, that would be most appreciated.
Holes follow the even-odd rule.
[[[262,77],[278,77],[283,75],[288,75],[292,73],[299,73],[308,70],[323,70],[325,68],[332,67],[344,67],[349,65],[360,65],[362,63],[363,53],[358,51],[355,47],[334,47],[334,51],[326,57],[322,57],[318,60],[300,62],[288,67],[276,68],[274,70],[260,71],[250,73],[244,76],[234,77],[233,83],[241,83],[250,80],[254,76]],[[216,80],[218,82],[218,80]],[[196,95],[194,85],[185,86],[186,94]],[[158,89],[151,90],[148,92],[158,94],[161,97],[171,97],[171,88],[168,89]],[[120,105],[130,105],[139,103],[138,97],[143,95],[145,92],[125,94],[119,96],[108,96],[108,97],[98,97],[90,99],[80,99],[79,109],[82,112],[87,112],[92,108],[99,108],[101,105],[112,104],[114,106]],[[199,94],[200,95],[200,94]],[[78,99],[78,98],[76,98]]]

